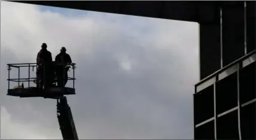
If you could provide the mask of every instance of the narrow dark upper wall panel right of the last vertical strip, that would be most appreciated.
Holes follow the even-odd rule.
[[[246,1],[246,38],[247,52],[255,49],[256,45],[256,1]]]

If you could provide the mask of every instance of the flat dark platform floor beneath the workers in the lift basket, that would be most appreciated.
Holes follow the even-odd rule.
[[[14,97],[43,97],[43,98],[56,98],[64,95],[74,95],[76,94],[74,88],[60,88],[60,87],[51,87],[47,89],[39,89],[35,87],[31,88],[16,88],[8,89],[8,94]]]

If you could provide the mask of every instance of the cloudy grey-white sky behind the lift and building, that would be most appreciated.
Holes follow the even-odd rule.
[[[193,138],[197,23],[1,1],[1,139],[62,139],[54,99],[6,95],[6,64],[34,63],[43,42],[77,63],[79,139]]]

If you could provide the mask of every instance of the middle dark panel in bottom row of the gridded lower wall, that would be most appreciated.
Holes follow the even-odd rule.
[[[239,139],[237,111],[218,118],[217,139]]]

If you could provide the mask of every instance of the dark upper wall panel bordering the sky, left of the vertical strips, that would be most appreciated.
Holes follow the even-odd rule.
[[[200,79],[221,69],[220,23],[200,24]]]

